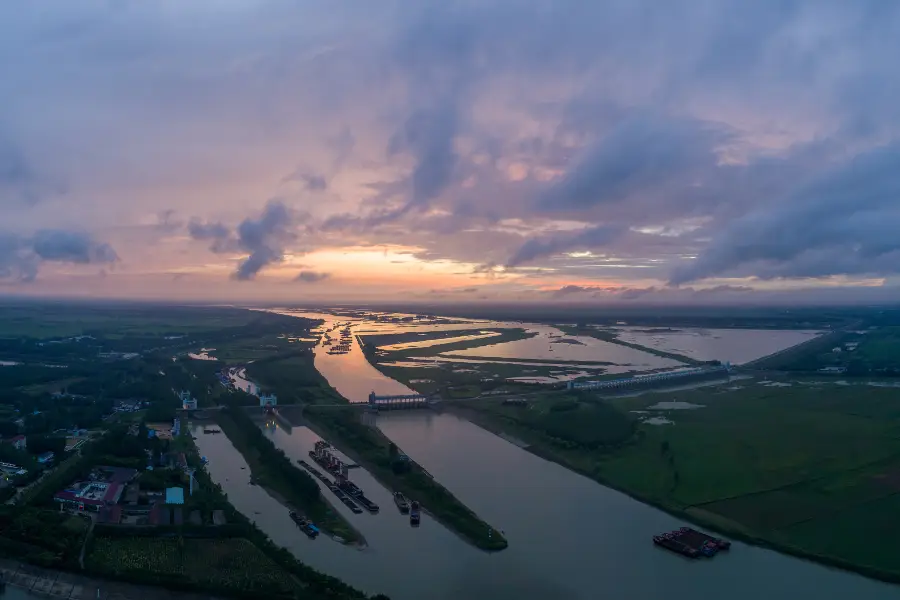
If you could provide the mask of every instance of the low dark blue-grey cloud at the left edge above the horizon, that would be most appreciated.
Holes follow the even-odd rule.
[[[0,279],[32,281],[41,263],[112,264],[112,246],[81,231],[42,229],[31,237],[0,233]]]

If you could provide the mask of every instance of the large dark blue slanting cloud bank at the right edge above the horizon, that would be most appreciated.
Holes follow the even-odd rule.
[[[674,271],[671,283],[735,271],[763,278],[900,272],[898,202],[900,142],[826,170],[731,222],[696,260]]]

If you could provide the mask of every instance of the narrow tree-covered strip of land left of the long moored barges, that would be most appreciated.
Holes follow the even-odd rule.
[[[290,464],[283,455],[283,462],[278,458],[264,460],[263,452],[275,457],[279,451],[271,440],[262,435],[259,427],[243,409],[220,411],[215,419],[222,432],[247,461],[253,480],[270,496],[286,508],[305,514],[323,533],[339,536],[348,544],[359,547],[366,545],[359,530],[334,509],[321,493],[318,484],[307,473]]]

